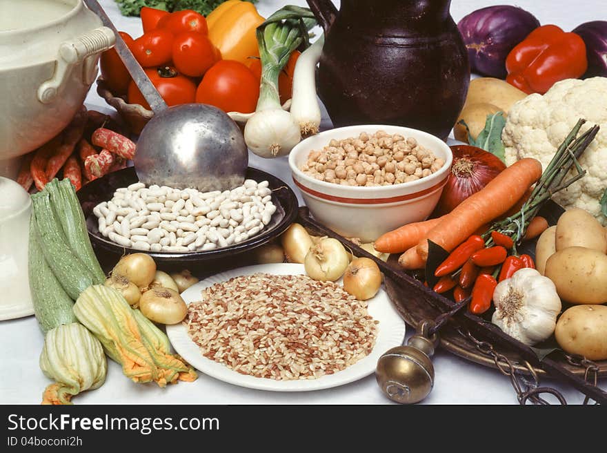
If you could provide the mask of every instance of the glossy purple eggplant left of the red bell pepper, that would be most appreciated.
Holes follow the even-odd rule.
[[[488,6],[471,12],[457,24],[468,49],[470,69],[504,79],[506,57],[514,46],[539,27],[530,12],[517,6]]]

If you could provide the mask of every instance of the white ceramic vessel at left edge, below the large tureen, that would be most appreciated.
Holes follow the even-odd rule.
[[[0,176],[0,320],[34,313],[28,279],[31,211],[23,187]]]

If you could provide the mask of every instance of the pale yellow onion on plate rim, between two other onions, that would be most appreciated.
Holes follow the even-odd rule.
[[[337,239],[326,238],[312,245],[304,260],[308,276],[323,282],[339,280],[348,267],[350,258]]]

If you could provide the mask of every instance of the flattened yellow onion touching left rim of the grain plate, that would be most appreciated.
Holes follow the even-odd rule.
[[[141,314],[151,321],[161,324],[177,324],[188,314],[188,307],[174,289],[152,287],[141,295]]]

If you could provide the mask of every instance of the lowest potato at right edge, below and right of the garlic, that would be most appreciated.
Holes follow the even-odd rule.
[[[607,359],[607,307],[571,307],[559,318],[555,337],[569,354],[580,354],[590,360]]]

